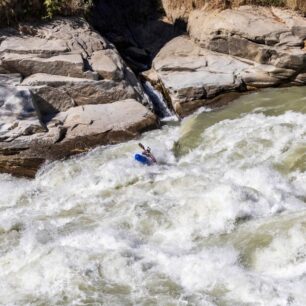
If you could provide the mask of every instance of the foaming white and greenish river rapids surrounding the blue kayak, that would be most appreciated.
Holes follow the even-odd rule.
[[[305,87],[138,141],[0,175],[1,305],[305,305]]]

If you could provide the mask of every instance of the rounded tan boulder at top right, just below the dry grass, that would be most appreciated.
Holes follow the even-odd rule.
[[[304,69],[305,21],[292,12],[294,26],[288,16],[286,23],[286,18],[278,15],[270,8],[254,6],[220,12],[195,10],[189,16],[188,29],[203,48],[279,68]]]

